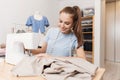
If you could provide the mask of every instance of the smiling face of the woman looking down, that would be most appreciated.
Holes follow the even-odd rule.
[[[73,19],[71,14],[65,12],[60,13],[58,26],[62,33],[64,34],[70,33],[72,24],[73,24]]]

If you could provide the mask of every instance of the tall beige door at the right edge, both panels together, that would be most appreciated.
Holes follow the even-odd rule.
[[[120,62],[120,0],[106,5],[106,60]]]

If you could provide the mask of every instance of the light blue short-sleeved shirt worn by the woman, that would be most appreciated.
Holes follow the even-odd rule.
[[[47,42],[46,53],[52,56],[72,56],[72,51],[77,47],[76,36],[63,34],[58,28],[51,28],[45,36]]]

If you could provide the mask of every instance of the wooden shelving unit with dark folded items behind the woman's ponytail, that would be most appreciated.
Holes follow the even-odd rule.
[[[82,17],[82,34],[87,61],[94,63],[94,16]]]

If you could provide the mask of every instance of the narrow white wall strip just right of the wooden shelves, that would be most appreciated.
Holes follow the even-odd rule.
[[[100,65],[100,27],[101,27],[101,0],[95,1],[95,39],[94,39],[94,63]]]

